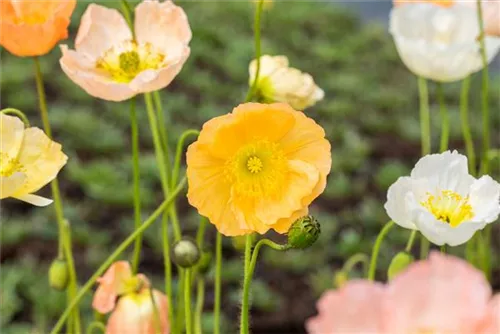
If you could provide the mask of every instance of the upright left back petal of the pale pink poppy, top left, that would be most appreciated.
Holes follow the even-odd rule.
[[[75,49],[95,61],[113,46],[132,39],[132,32],[118,10],[90,4],[80,22]]]

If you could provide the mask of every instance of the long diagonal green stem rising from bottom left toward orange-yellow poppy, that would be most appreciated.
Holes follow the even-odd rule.
[[[85,294],[92,288],[97,279],[108,269],[108,267],[125,251],[128,246],[130,246],[135,239],[144,233],[155,221],[156,219],[173,203],[174,199],[177,197],[179,192],[186,185],[186,177],[184,177],[179,185],[175,188],[174,191],[170,193],[170,196],[163,201],[163,203],[149,216],[148,219],[141,224],[141,226],[135,230],[132,234],[130,234],[117,248],[111,253],[111,255],[104,261],[103,264],[96,270],[96,272],[89,278],[89,280],[83,285],[80,289],[76,297],[72,300],[71,304],[66,307],[63,314],[55,324],[54,328],[50,332],[50,334],[57,334],[62,328],[64,321],[69,316],[73,308],[75,308],[80,300],[85,296]]]

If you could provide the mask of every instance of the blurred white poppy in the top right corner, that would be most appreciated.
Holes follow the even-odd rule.
[[[461,80],[483,67],[474,7],[405,3],[391,11],[390,32],[405,65],[439,82]],[[488,62],[500,50],[500,37],[486,36]]]

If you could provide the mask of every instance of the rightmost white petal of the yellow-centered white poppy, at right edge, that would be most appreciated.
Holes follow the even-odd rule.
[[[500,215],[500,183],[489,175],[476,180],[470,187],[469,203],[475,222],[491,223]]]

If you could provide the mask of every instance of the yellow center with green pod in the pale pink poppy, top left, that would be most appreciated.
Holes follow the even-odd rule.
[[[112,47],[96,62],[98,70],[121,83],[129,83],[142,71],[157,70],[164,65],[164,54],[153,50],[149,43],[138,45],[134,41]]]

